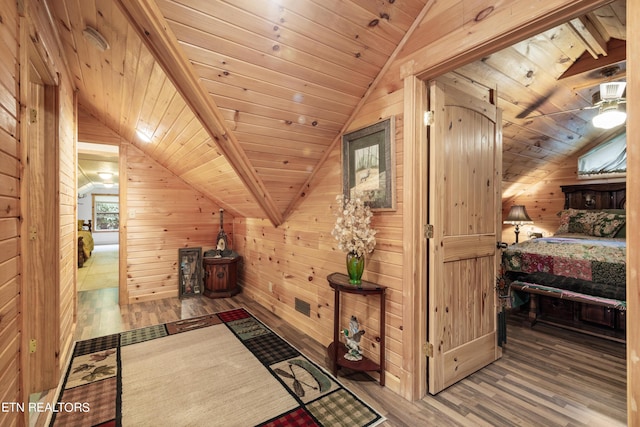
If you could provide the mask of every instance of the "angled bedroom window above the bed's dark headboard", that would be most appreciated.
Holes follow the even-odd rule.
[[[598,145],[578,158],[578,178],[622,177],[627,173],[627,134]]]

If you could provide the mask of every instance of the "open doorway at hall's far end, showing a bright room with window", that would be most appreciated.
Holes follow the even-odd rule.
[[[78,143],[79,292],[118,288],[119,148]]]

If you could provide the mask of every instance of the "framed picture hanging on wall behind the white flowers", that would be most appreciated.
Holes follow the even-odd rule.
[[[395,118],[342,136],[344,196],[359,193],[371,210],[395,210]]]

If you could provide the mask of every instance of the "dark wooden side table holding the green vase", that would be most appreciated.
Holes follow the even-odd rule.
[[[380,373],[380,385],[384,386],[384,364],[385,364],[385,301],[386,286],[377,283],[362,281],[360,285],[352,285],[349,283],[349,277],[342,273],[332,273],[327,276],[329,285],[335,291],[335,305],[333,315],[333,342],[329,344],[327,352],[329,361],[331,362],[331,370],[333,375],[337,375],[338,369],[348,368],[354,371],[374,371]],[[380,363],[375,363],[367,357],[362,360],[353,362],[344,358],[347,349],[340,341],[340,294],[357,294],[357,295],[379,295],[380,296]]]

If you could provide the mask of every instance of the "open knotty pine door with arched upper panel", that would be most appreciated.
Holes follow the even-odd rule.
[[[495,91],[447,77],[429,84],[429,393],[493,362],[501,216]]]

